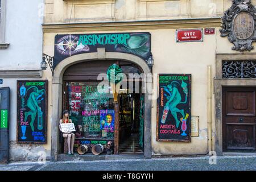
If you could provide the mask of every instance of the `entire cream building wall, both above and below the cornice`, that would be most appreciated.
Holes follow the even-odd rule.
[[[49,1],[50,2],[50,1]],[[256,1],[252,1],[256,5]],[[208,154],[208,65],[212,69],[212,79],[216,76],[216,54],[234,53],[227,38],[221,38],[220,26],[216,26],[210,20],[218,18],[228,9],[232,1],[157,1],[157,0],[121,0],[121,1],[51,1],[46,7],[54,9],[60,6],[64,11],[59,10],[46,14],[44,26],[44,52],[50,55],[54,53],[54,37],[56,34],[93,34],[105,32],[150,32],[152,53],[154,55],[153,73],[191,73],[192,74],[192,116],[199,116],[199,137],[192,137],[191,143],[182,142],[157,142],[156,141],[156,100],[152,101],[151,110],[151,143],[152,155],[205,155]],[[60,9],[61,9],[60,8]],[[72,10],[72,11],[71,11]],[[104,11],[105,10],[105,11]],[[72,12],[70,14],[70,12]],[[113,13],[114,12],[114,13]],[[71,16],[69,16],[71,15]],[[186,22],[179,22],[179,19],[188,18]],[[189,21],[192,18],[207,19],[207,23],[193,24]],[[157,20],[177,19],[179,25],[172,22],[162,27],[158,26]],[[108,28],[97,27],[95,22],[120,22],[137,20],[155,20],[150,26],[145,22],[141,24],[115,27],[117,24],[106,23]],[[52,23],[86,23],[83,26],[72,24],[72,28],[55,25]],[[104,24],[105,26],[105,24]],[[215,35],[204,35],[203,42],[176,43],[175,33],[179,28],[205,28],[215,27]],[[54,29],[56,28],[56,29]],[[118,28],[118,31],[116,30]],[[254,49],[251,51],[256,53]],[[50,74],[48,72],[47,74]],[[153,80],[155,86],[157,80]],[[215,103],[212,83],[212,135],[213,150],[216,137],[215,129]]]

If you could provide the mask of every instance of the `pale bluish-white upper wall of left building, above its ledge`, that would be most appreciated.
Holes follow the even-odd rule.
[[[43,23],[41,12],[43,13],[43,0],[6,1],[5,41],[10,46],[0,50],[0,69],[40,69]]]

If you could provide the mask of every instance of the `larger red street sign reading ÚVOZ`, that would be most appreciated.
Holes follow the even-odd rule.
[[[203,29],[176,30],[176,42],[203,42]]]

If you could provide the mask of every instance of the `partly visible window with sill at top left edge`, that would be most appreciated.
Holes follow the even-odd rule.
[[[9,46],[5,43],[5,9],[6,0],[0,0],[0,49],[6,49]]]

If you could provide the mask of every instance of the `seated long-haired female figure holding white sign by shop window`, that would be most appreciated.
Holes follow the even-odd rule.
[[[63,118],[60,119],[60,131],[63,132],[61,130],[61,124],[64,124],[64,123],[72,123],[72,120],[69,119],[69,111],[65,110],[63,112]],[[68,142],[68,155],[74,155],[73,153],[73,147],[74,147],[74,142],[75,142],[75,134],[70,132],[70,133],[63,133],[62,134],[63,138],[67,138],[67,142]]]

